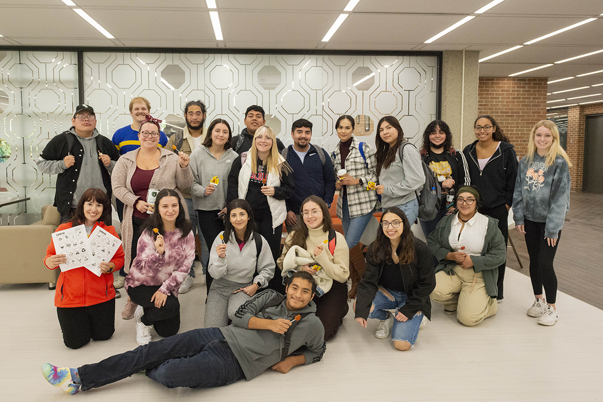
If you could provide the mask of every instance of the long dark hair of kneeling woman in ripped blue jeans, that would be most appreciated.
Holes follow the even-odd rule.
[[[386,209],[381,215],[381,220],[379,223],[383,221],[383,217],[385,214],[396,214],[402,221],[403,229],[402,235],[400,236],[400,244],[396,249],[396,255],[399,258],[399,264],[410,264],[414,261],[415,255],[415,237],[411,232],[411,224],[408,222],[408,218],[406,214],[402,211],[402,209],[397,206],[392,206],[391,208]],[[379,226],[381,226],[379,224]],[[377,238],[372,244],[373,246],[373,258],[377,264],[392,264],[393,259],[391,258],[391,241],[388,238],[382,227],[379,227],[377,230]]]

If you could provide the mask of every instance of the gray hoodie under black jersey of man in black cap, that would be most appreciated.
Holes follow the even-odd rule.
[[[80,202],[82,194],[84,194],[84,191],[88,190],[89,188],[101,188],[105,191],[109,189],[105,188],[103,183],[103,175],[101,175],[101,167],[98,164],[96,137],[100,135],[99,132],[94,129],[91,137],[82,138],[75,132],[74,127],[69,129],[69,131],[75,134],[75,138],[80,141],[80,144],[84,149],[84,158],[80,168],[80,175],[77,179],[77,187],[75,188],[73,201],[71,203],[72,206],[77,206],[78,202]],[[109,167],[105,167],[105,169],[111,173],[115,164],[116,161],[111,161]],[[47,161],[40,158],[36,162],[36,165],[40,172],[46,173],[47,175],[58,175],[59,173],[65,172],[67,169],[63,159],[59,159],[58,161]]]

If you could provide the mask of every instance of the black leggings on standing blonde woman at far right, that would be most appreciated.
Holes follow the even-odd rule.
[[[526,219],[524,224],[526,247],[528,247],[529,255],[529,277],[532,281],[534,295],[542,294],[544,285],[546,302],[551,305],[555,304],[555,300],[557,300],[557,275],[555,275],[553,268],[553,260],[561,240],[561,230],[559,230],[557,244],[551,247],[545,239],[546,223],[532,222]]]

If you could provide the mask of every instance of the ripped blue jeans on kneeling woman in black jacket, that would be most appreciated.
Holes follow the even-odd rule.
[[[384,293],[387,292],[387,294]],[[392,300],[393,299],[393,300]],[[385,320],[387,312],[385,310],[399,309],[406,304],[406,294],[395,290],[379,288],[373,300],[373,311],[368,314],[368,318]],[[418,329],[423,321],[423,313],[418,312],[414,317],[408,317],[406,322],[398,321],[394,318],[394,326],[391,329],[391,339],[393,341],[406,341],[411,345],[417,341]]]

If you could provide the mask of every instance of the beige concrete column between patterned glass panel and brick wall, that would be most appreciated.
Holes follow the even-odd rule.
[[[444,51],[442,66],[442,120],[463,149],[475,140],[473,121],[478,117],[479,51]]]

